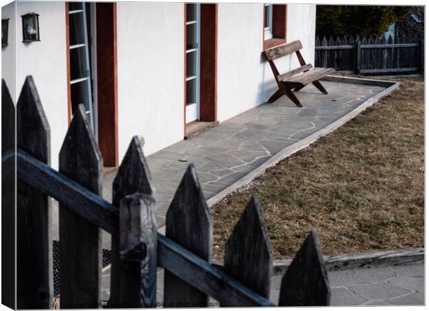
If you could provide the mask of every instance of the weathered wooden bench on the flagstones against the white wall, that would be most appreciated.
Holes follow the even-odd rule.
[[[280,98],[282,95],[286,95],[295,105],[302,107],[302,104],[295,94],[293,94],[292,90],[300,91],[301,88],[310,83],[316,86],[316,88],[318,88],[318,90],[323,94],[327,94],[325,88],[322,86],[322,84],[320,84],[319,79],[329,75],[329,73],[333,73],[335,69],[313,68],[311,64],[305,64],[304,58],[300,53],[301,49],[302,44],[299,40],[297,40],[291,42],[290,44],[282,44],[281,46],[264,50],[264,55],[271,66],[271,70],[273,70],[275,81],[279,86],[279,89],[273,94],[273,96],[269,98],[269,103],[275,102],[275,100]],[[280,75],[279,70],[277,70],[277,67],[273,62],[274,59],[290,55],[292,53],[296,53],[301,66]]]

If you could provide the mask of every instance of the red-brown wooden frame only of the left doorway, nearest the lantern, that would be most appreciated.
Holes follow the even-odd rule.
[[[84,1],[82,1],[84,2]],[[69,3],[65,2],[66,11],[66,63],[67,63],[67,113],[71,122],[71,88],[70,88],[70,41],[69,41]],[[97,70],[96,93],[98,122],[98,147],[105,167],[118,166],[118,61],[116,51],[116,3],[96,3],[95,19],[97,23],[96,56],[100,64],[93,66]],[[92,19],[91,19],[92,20]],[[102,48],[100,48],[102,47]]]

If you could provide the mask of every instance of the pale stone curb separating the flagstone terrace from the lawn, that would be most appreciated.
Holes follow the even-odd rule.
[[[207,200],[208,207],[212,207],[217,202],[219,202],[220,200],[228,196],[228,194],[231,194],[233,191],[240,189],[241,187],[244,187],[249,182],[251,182],[258,176],[261,176],[263,173],[265,173],[266,169],[268,169],[269,167],[273,167],[275,164],[277,164],[284,158],[287,158],[291,156],[293,153],[296,153],[304,148],[309,147],[310,144],[312,144],[313,142],[316,142],[316,140],[318,140],[322,136],[325,136],[331,133],[332,131],[335,131],[340,126],[342,126],[349,120],[352,120],[354,117],[356,117],[356,115],[358,115],[368,107],[378,102],[378,100],[395,91],[396,88],[399,88],[399,85],[400,85],[399,82],[375,80],[375,79],[363,79],[363,78],[354,78],[354,77],[340,77],[340,76],[334,76],[334,75],[328,75],[323,80],[331,81],[331,82],[339,82],[339,83],[374,85],[374,86],[382,86],[387,88],[384,91],[374,95],[373,97],[370,97],[368,100],[363,102],[363,104],[360,104],[360,106],[356,107],[356,109],[354,109],[353,111],[350,111],[346,115],[343,115],[343,117],[340,117],[340,119],[325,126],[323,129],[320,129],[316,133],[313,133],[307,136],[307,138],[304,138],[303,140],[295,142],[295,144],[291,144],[291,146],[286,147],[282,151],[277,152],[274,156],[272,156],[266,162],[261,164],[259,167],[255,168],[246,176],[237,180],[229,187],[226,187],[218,194],[215,194],[215,196],[212,196],[210,199],[208,199]]]

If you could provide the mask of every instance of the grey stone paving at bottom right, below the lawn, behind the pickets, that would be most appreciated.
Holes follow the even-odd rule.
[[[328,272],[331,305],[424,305],[424,264],[379,266]],[[277,304],[282,275],[272,276],[270,301]],[[164,270],[158,269],[156,300],[163,301]],[[109,297],[109,274],[102,277],[102,299]]]

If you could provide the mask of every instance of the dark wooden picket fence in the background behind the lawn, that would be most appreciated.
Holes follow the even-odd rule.
[[[424,71],[424,37],[316,37],[315,64],[362,75],[416,74]]]

